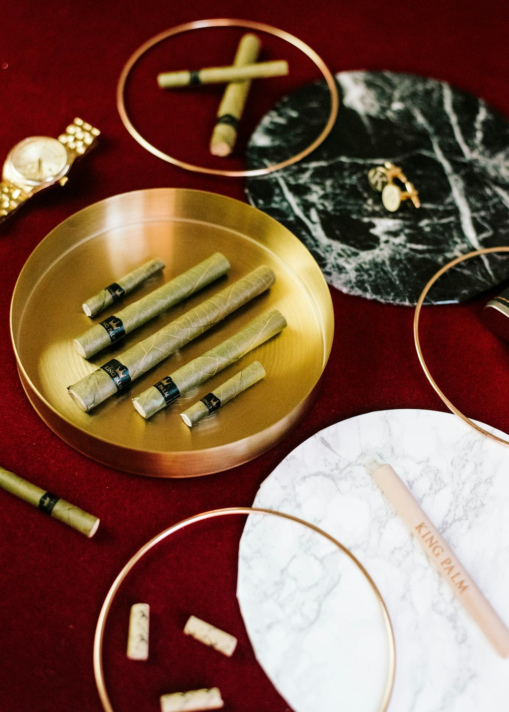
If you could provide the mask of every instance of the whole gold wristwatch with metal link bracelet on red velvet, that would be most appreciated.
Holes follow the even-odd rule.
[[[30,136],[6,157],[0,183],[0,223],[40,190],[65,185],[73,162],[96,145],[100,131],[75,119],[56,138]]]

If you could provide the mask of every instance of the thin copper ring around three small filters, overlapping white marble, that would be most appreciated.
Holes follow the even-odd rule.
[[[281,517],[282,519],[287,519],[302,524],[305,527],[317,532],[318,534],[321,534],[331,543],[336,545],[344,554],[346,554],[364,575],[369,585],[374,590],[376,598],[379,601],[387,632],[387,642],[389,644],[389,671],[387,674],[387,684],[384,693],[384,698],[382,699],[381,706],[379,708],[379,712],[386,712],[394,688],[394,676],[396,673],[396,648],[394,644],[394,630],[392,627],[391,618],[389,617],[389,611],[387,610],[386,603],[381,593],[379,592],[379,589],[376,587],[376,583],[371,578],[371,576],[366,571],[361,562],[351,553],[351,551],[347,549],[346,546],[341,544],[338,540],[334,539],[334,537],[332,537],[330,534],[324,532],[324,530],[319,529],[317,526],[310,522],[304,521],[303,519],[299,519],[298,517],[294,517],[294,515],[292,514],[285,514],[284,512],[278,512],[272,509],[261,509],[255,507],[227,507],[223,509],[212,509],[208,512],[202,512],[200,514],[195,514],[192,517],[188,517],[187,519],[183,519],[182,521],[173,524],[172,526],[163,530],[159,534],[155,535],[154,538],[150,539],[150,541],[148,541],[140,549],[138,549],[135,555],[133,555],[133,557],[131,557],[130,560],[125,564],[123,569],[113,581],[110,590],[106,594],[106,598],[101,607],[101,612],[99,613],[96,633],[93,638],[93,675],[96,679],[97,691],[99,693],[99,697],[101,698],[101,703],[105,712],[115,712],[113,707],[111,706],[108,691],[106,691],[106,681],[104,679],[103,669],[103,639],[104,631],[106,628],[106,619],[108,617],[108,612],[110,611],[111,604],[113,603],[113,599],[115,598],[115,595],[118,592],[120,585],[122,584],[123,580],[125,580],[125,577],[128,575],[130,570],[132,570],[135,564],[138,563],[138,561],[141,559],[141,557],[143,557],[143,555],[150,551],[150,549],[155,547],[156,544],[160,543],[165,538],[174,534],[175,532],[178,532],[179,530],[184,529],[195,522],[200,522],[207,519],[213,519],[215,517],[222,517],[232,514],[249,515],[253,513],[268,514]]]

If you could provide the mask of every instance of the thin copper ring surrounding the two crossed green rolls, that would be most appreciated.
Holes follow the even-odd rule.
[[[217,168],[207,168],[204,166],[198,166],[193,163],[187,163],[185,161],[181,161],[178,158],[170,156],[167,153],[156,148],[150,142],[148,142],[148,140],[146,140],[140,134],[140,132],[138,132],[138,130],[135,129],[133,122],[131,122],[131,120],[129,118],[127,109],[125,108],[125,99],[124,99],[125,84],[128,80],[130,71],[132,70],[135,63],[138,62],[140,57],[142,57],[145,54],[145,52],[147,52],[149,49],[153,48],[153,46],[162,42],[165,39],[168,39],[175,35],[189,32],[192,30],[208,28],[208,27],[243,27],[243,28],[247,28],[250,30],[265,32],[269,35],[274,35],[274,37],[279,37],[280,39],[289,42],[294,47],[297,47],[297,49],[301,50],[319,68],[319,70],[322,72],[322,75],[324,76],[324,79],[327,82],[327,86],[329,88],[329,93],[330,93],[330,97],[331,97],[331,111],[329,113],[329,118],[327,119],[327,123],[326,123],[324,129],[319,134],[319,136],[317,136],[317,138],[311,144],[309,144],[309,146],[307,148],[305,148],[304,150],[295,154],[294,156],[287,158],[286,160],[284,160],[282,162],[272,164],[272,166],[266,166],[264,168],[257,168],[257,169],[253,169],[250,171],[227,171],[227,170],[220,170]],[[185,170],[192,171],[195,173],[205,173],[205,174],[209,174],[209,175],[223,176],[223,177],[246,178],[246,177],[253,177],[253,176],[262,176],[262,175],[267,175],[267,173],[272,173],[272,172],[277,171],[281,168],[291,166],[292,164],[297,163],[297,161],[301,160],[302,158],[309,155],[312,151],[314,151],[315,148],[317,148],[327,138],[327,136],[329,135],[329,133],[332,130],[332,127],[334,126],[334,123],[336,122],[338,108],[339,108],[339,94],[338,94],[338,90],[336,87],[336,82],[334,80],[334,75],[331,74],[331,71],[329,70],[327,65],[324,63],[322,58],[311,47],[309,47],[309,45],[307,45],[302,40],[299,40],[298,37],[295,37],[294,35],[290,34],[289,32],[287,32],[285,30],[280,30],[277,27],[273,27],[272,25],[267,25],[263,22],[255,22],[255,21],[250,21],[250,20],[239,20],[239,19],[231,19],[231,18],[218,18],[218,19],[212,19],[212,20],[196,20],[194,22],[185,22],[185,23],[182,23],[181,25],[172,27],[169,30],[160,32],[158,35],[151,37],[149,40],[147,40],[145,43],[143,43],[143,45],[138,47],[138,49],[135,50],[135,52],[133,52],[133,54],[130,56],[128,61],[125,63],[123,70],[120,73],[120,77],[118,79],[118,84],[117,84],[117,109],[118,109],[118,113],[120,115],[120,120],[122,121],[123,125],[128,130],[128,132],[130,133],[130,135],[133,137],[133,139],[136,142],[138,142],[140,144],[140,146],[142,146],[143,148],[145,148],[147,151],[149,151],[153,155],[157,156],[158,158],[163,159],[163,161],[166,161],[167,163],[172,163],[173,165],[178,166],[179,168],[184,168]]]

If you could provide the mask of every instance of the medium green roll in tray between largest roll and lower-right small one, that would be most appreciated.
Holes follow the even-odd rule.
[[[140,393],[133,398],[133,406],[144,418],[150,418],[186,391],[204,383],[279,334],[286,325],[286,319],[277,309],[262,314],[244,329]]]

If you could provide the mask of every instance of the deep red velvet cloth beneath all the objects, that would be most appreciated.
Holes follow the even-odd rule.
[[[0,492],[0,710],[100,712],[93,632],[110,584],[140,545],[189,515],[250,506],[259,483],[289,451],[339,419],[386,408],[445,409],[418,365],[413,310],[332,290],[336,335],[317,401],[284,441],[249,464],[195,479],[128,475],[73,451],[41,422],[21,388],[9,335],[11,293],[38,242],[75,211],[130,190],[192,187],[245,200],[241,179],[182,171],[133,141],[115,108],[123,64],[135,48],[165,28],[195,19],[240,17],[294,33],[321,54],[331,70],[386,68],[448,80],[509,115],[507,8],[504,0],[21,0],[4,6],[0,14],[2,160],[19,140],[37,133],[57,136],[74,116],[102,130],[100,147],[76,167],[65,189],[34,198],[0,227],[0,463],[101,517],[98,534],[86,540]],[[198,65],[207,56],[229,61],[238,34],[219,45],[217,37],[211,32],[191,45]],[[188,56],[189,47],[176,43],[175,57]],[[283,49],[278,46],[280,56]],[[284,88],[316,76],[302,58],[294,66],[287,84],[274,83],[266,93],[252,94],[252,125]],[[174,105],[168,97],[156,96],[153,86],[139,81],[143,68],[134,80],[130,99],[136,119],[152,137],[163,147],[168,142],[166,148],[182,157],[205,159],[200,144],[206,135],[205,108],[191,97],[180,97]],[[218,96],[207,89],[202,106],[217,105]],[[246,134],[249,129],[247,122]],[[500,234],[500,244],[507,242],[507,234]],[[423,345],[433,374],[458,407],[508,431],[507,347],[480,322],[482,303],[480,299],[425,310]],[[41,328],[51,328],[51,315]],[[222,523],[199,537],[182,537],[178,553],[171,555],[175,559],[158,553],[147,568],[150,576],[142,581],[138,572],[122,592],[106,639],[115,710],[155,711],[158,693],[217,681],[235,701],[227,709],[287,708],[258,668],[242,629],[235,602],[239,532],[240,525]],[[126,610],[137,595],[150,597],[153,604],[155,650],[160,651],[146,669],[129,666],[124,658]],[[212,660],[216,654],[191,641],[180,644],[178,661],[175,655],[172,659],[168,607],[179,625],[195,613],[238,634],[237,659]]]

